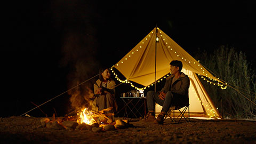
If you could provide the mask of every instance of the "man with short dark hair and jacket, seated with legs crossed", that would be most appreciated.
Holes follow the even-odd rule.
[[[189,77],[182,73],[181,69],[181,61],[171,61],[170,70],[172,75],[166,78],[163,89],[158,93],[154,91],[147,92],[147,121],[163,124],[164,117],[171,106],[185,106],[188,104]],[[154,115],[155,102],[163,106],[157,119]]]

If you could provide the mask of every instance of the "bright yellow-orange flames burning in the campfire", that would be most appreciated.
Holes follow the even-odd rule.
[[[87,108],[82,109],[77,115],[80,117],[80,119],[77,119],[77,123],[85,123],[85,124],[93,124],[95,123],[95,120],[92,117],[92,111],[88,111]]]

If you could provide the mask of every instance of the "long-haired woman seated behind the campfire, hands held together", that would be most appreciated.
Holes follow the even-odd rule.
[[[107,113],[117,111],[115,85],[116,83],[110,78],[110,70],[108,68],[101,68],[99,79],[94,83],[94,94],[97,95],[96,103],[99,111],[109,107],[113,107],[113,109],[107,111]],[[113,117],[111,119],[113,120]]]

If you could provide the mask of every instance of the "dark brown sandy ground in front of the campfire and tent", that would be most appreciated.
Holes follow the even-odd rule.
[[[126,129],[93,132],[49,129],[41,126],[40,119],[0,118],[0,143],[256,143],[255,121],[190,119],[175,124],[166,119],[163,125],[131,121]]]

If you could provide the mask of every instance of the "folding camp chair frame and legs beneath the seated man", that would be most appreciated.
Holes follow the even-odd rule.
[[[183,108],[183,107],[184,107],[184,109],[182,111],[180,111],[180,109]],[[184,114],[185,114],[187,109],[188,109],[188,117],[185,117]],[[181,120],[182,117],[186,120],[186,122],[190,122],[190,120],[189,120],[189,104],[186,105],[186,106],[171,106],[170,109],[167,111],[167,114],[165,115],[164,120],[167,117],[170,117],[172,119],[172,121],[175,123],[175,121],[174,121],[174,119],[175,119],[174,110],[179,110],[179,112],[180,112],[179,116],[176,117],[176,118],[179,118],[181,116],[178,123],[180,123],[180,120]],[[171,117],[172,111],[173,111],[173,118]]]

